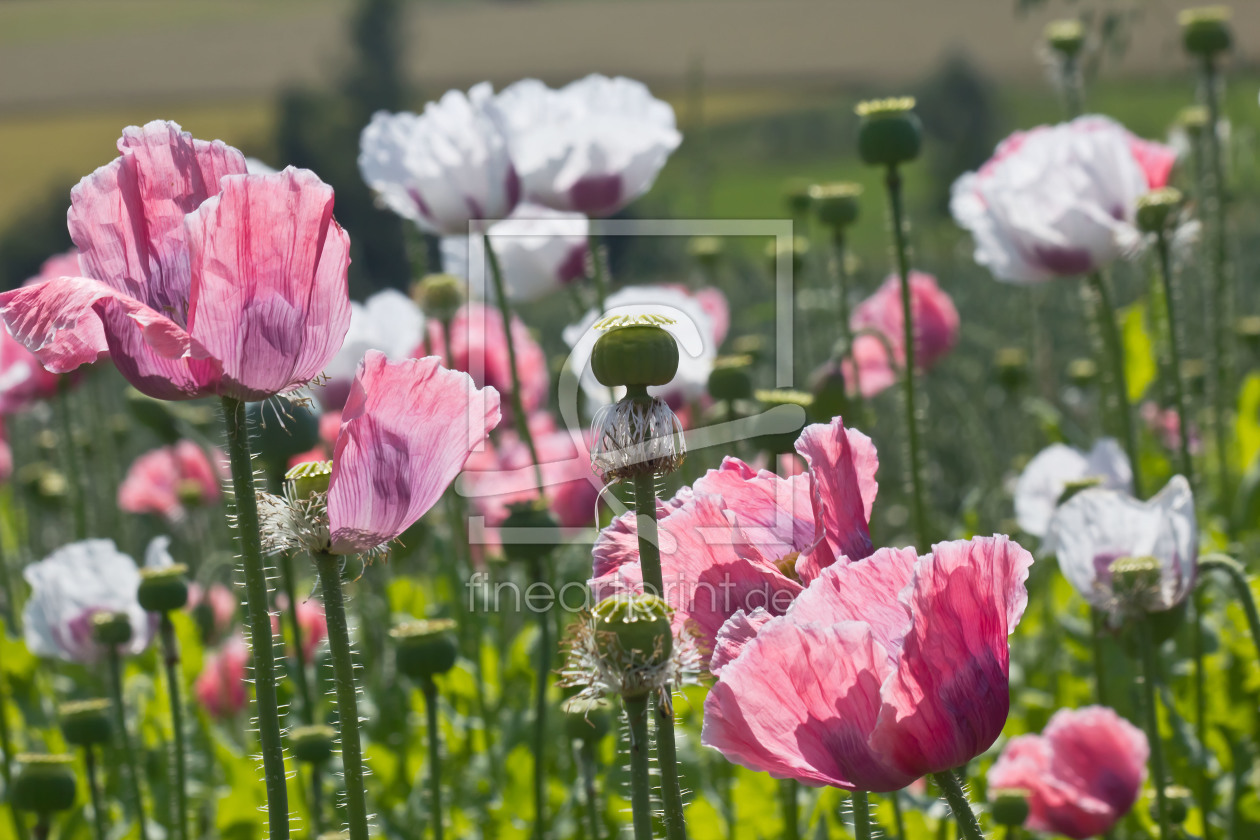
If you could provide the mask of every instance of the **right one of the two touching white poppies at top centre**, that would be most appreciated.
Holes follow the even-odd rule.
[[[524,195],[557,210],[612,215],[646,193],[683,137],[641,82],[591,74],[554,91],[523,79],[495,98]]]

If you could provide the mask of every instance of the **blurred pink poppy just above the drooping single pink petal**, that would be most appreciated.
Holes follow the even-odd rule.
[[[451,319],[452,359],[446,358],[442,329],[436,320],[428,321],[430,348],[442,356],[446,366],[472,374],[479,387],[494,388],[500,394],[512,393],[508,338],[503,329],[503,316],[496,307],[476,301],[460,307]],[[517,349],[520,403],[527,414],[533,414],[547,404],[547,395],[551,393],[547,355],[515,315],[512,316],[512,340]],[[416,353],[418,355],[422,350],[417,348]],[[507,406],[504,409],[507,411]]]

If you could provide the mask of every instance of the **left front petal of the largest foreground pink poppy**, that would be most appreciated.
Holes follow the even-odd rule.
[[[900,790],[915,775],[867,746],[891,670],[867,625],[774,620],[722,669],[704,701],[701,743],[779,778]]]

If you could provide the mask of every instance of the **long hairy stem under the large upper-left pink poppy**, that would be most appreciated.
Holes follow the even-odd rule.
[[[271,612],[267,606],[267,568],[258,534],[258,500],[253,487],[253,462],[246,428],[244,403],[223,398],[228,458],[236,506],[237,540],[244,570],[244,599],[249,613],[253,654],[253,690],[258,708],[258,741],[267,787],[267,840],[289,840],[289,788],[285,781],[285,751],[280,738],[280,709],[276,701],[276,656],[272,650]]]

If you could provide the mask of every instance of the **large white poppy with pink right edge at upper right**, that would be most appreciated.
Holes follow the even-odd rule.
[[[1106,117],[1017,132],[954,183],[950,210],[998,280],[1099,271],[1137,247],[1138,199],[1167,184],[1176,152]]]

